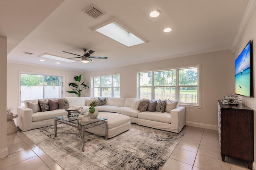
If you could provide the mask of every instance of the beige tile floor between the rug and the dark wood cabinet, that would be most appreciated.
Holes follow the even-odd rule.
[[[186,126],[184,137],[162,170],[248,170],[247,162],[225,157],[222,162],[218,131]]]

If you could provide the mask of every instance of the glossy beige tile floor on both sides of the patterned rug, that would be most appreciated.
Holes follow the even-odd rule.
[[[222,162],[217,131],[191,126],[182,131],[185,136],[162,170],[248,170],[243,161],[226,157]],[[62,170],[20,131],[7,135],[7,145],[9,154],[0,159],[0,170]]]

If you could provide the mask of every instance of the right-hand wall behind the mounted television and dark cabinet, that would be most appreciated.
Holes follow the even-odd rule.
[[[252,41],[252,50],[253,50],[253,57],[252,57],[252,97],[246,98],[242,97],[242,103],[246,106],[252,108],[254,110],[254,163],[253,163],[253,169],[256,170],[256,164],[255,164],[255,158],[256,158],[256,116],[255,116],[255,110],[256,110],[256,9],[252,12],[252,15],[244,29],[244,32],[238,41],[238,44],[236,45],[236,53],[235,53],[235,59],[238,57],[238,55],[241,53],[241,51],[244,49],[246,44],[249,40]]]

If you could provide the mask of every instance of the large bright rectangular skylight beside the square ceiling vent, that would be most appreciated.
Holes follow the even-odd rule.
[[[94,27],[92,30],[97,31],[118,43],[126,45],[127,47],[148,42],[116,19],[108,21],[98,27]]]

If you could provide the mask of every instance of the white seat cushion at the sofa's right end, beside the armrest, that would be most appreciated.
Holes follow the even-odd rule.
[[[158,111],[144,111],[138,113],[138,119],[146,119],[152,121],[158,121],[163,123],[171,123],[171,114],[167,112],[158,112]]]

